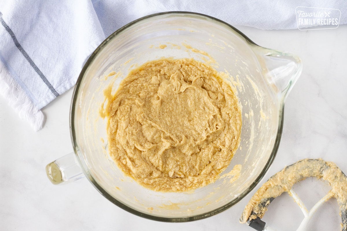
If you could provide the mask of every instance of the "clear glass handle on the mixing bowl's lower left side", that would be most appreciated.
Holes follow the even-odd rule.
[[[84,177],[74,152],[49,163],[46,166],[46,174],[54,185],[73,182]]]

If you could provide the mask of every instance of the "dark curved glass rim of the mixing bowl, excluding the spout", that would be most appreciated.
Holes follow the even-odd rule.
[[[156,14],[151,14],[151,15],[147,15],[145,17],[136,19],[134,21],[132,21],[131,23],[128,23],[127,25],[119,28],[118,30],[116,30],[115,32],[113,32],[110,36],[108,36],[96,49],[95,51],[90,55],[90,57],[87,59],[86,63],[84,64],[81,73],[78,76],[75,88],[74,88],[74,92],[73,92],[73,97],[71,100],[71,107],[70,107],[70,135],[71,135],[71,142],[73,144],[73,148],[74,148],[74,152],[75,155],[77,157],[77,160],[79,162],[79,165],[81,166],[81,169],[84,173],[84,175],[88,178],[88,180],[94,185],[94,187],[105,197],[107,198],[110,202],[112,202],[113,204],[117,205],[118,207],[124,209],[125,211],[128,211],[132,214],[135,214],[137,216],[140,217],[144,217],[150,220],[154,220],[154,221],[163,221],[163,222],[187,222],[187,221],[195,221],[195,220],[200,220],[200,219],[204,219],[210,216],[213,216],[215,214],[218,214],[220,212],[223,212],[225,210],[227,210],[228,208],[230,208],[231,206],[235,205],[236,203],[238,203],[241,199],[243,199],[249,192],[251,192],[255,186],[260,182],[260,180],[264,177],[264,175],[266,174],[266,172],[268,171],[268,169],[270,168],[274,158],[276,157],[276,153],[278,151],[279,148],[279,143],[281,140],[281,135],[282,135],[282,129],[283,129],[283,112],[284,112],[284,103],[283,101],[280,102],[279,105],[279,122],[278,122],[278,130],[277,130],[277,135],[276,135],[276,140],[274,142],[274,146],[272,149],[272,152],[270,154],[269,160],[266,162],[263,170],[260,172],[259,176],[255,179],[255,181],[243,192],[241,193],[238,197],[236,197],[235,199],[233,199],[232,201],[228,202],[227,204],[224,204],[210,212],[205,212],[202,214],[198,214],[198,215],[192,215],[192,216],[184,216],[184,217],[161,217],[161,216],[157,216],[157,215],[152,215],[152,214],[147,214],[147,213],[143,213],[140,212],[132,207],[129,207],[127,205],[125,205],[124,203],[122,203],[121,201],[115,199],[114,197],[112,197],[105,189],[103,189],[97,182],[96,180],[91,176],[91,174],[89,173],[87,167],[86,167],[86,163],[85,160],[79,156],[78,154],[78,143],[76,141],[76,133],[75,133],[75,128],[74,128],[74,119],[75,119],[75,105],[76,105],[76,101],[77,101],[77,95],[79,92],[79,89],[81,87],[81,82],[83,79],[83,76],[88,68],[88,66],[93,62],[93,60],[95,59],[96,55],[99,53],[99,51],[102,50],[102,48],[108,44],[108,42],[115,38],[116,36],[118,36],[119,34],[121,34],[121,32],[123,32],[125,29],[129,28],[130,26],[133,26],[145,19],[149,19],[149,18],[153,18],[156,16],[163,16],[163,15],[181,15],[181,17],[184,17],[184,15],[186,16],[200,16],[205,18],[206,20],[212,20],[216,23],[219,24],[223,24],[224,26],[227,26],[229,29],[233,30],[234,32],[236,32],[236,34],[240,35],[243,39],[245,39],[245,42],[247,42],[249,45],[251,46],[258,46],[257,44],[255,44],[251,39],[249,39],[246,35],[244,35],[242,32],[240,32],[238,29],[236,29],[235,27],[231,26],[230,24],[214,18],[212,16],[208,16],[208,15],[204,15],[204,14],[200,14],[200,13],[196,13],[196,12],[189,12],[189,11],[167,11],[167,12],[161,12],[161,13],[156,13]],[[240,212],[241,213],[241,212]]]

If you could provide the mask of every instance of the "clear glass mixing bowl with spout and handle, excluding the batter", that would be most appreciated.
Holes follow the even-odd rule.
[[[166,46],[165,46],[166,45]],[[224,177],[187,193],[154,192],[125,176],[107,152],[103,90],[132,68],[160,57],[192,57],[228,73],[242,106],[240,146]],[[108,74],[115,71],[116,74]],[[54,184],[86,176],[109,201],[138,216],[184,222],[217,214],[249,193],[270,167],[280,142],[286,96],[302,71],[298,57],[260,47],[229,24],[191,12],[164,12],[120,28],[96,48],[75,87],[70,128],[74,153],[46,167]]]

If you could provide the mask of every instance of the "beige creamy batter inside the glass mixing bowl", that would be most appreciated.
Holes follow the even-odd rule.
[[[183,192],[206,186],[238,148],[238,100],[215,69],[194,59],[147,62],[109,100],[110,155],[146,188]]]

